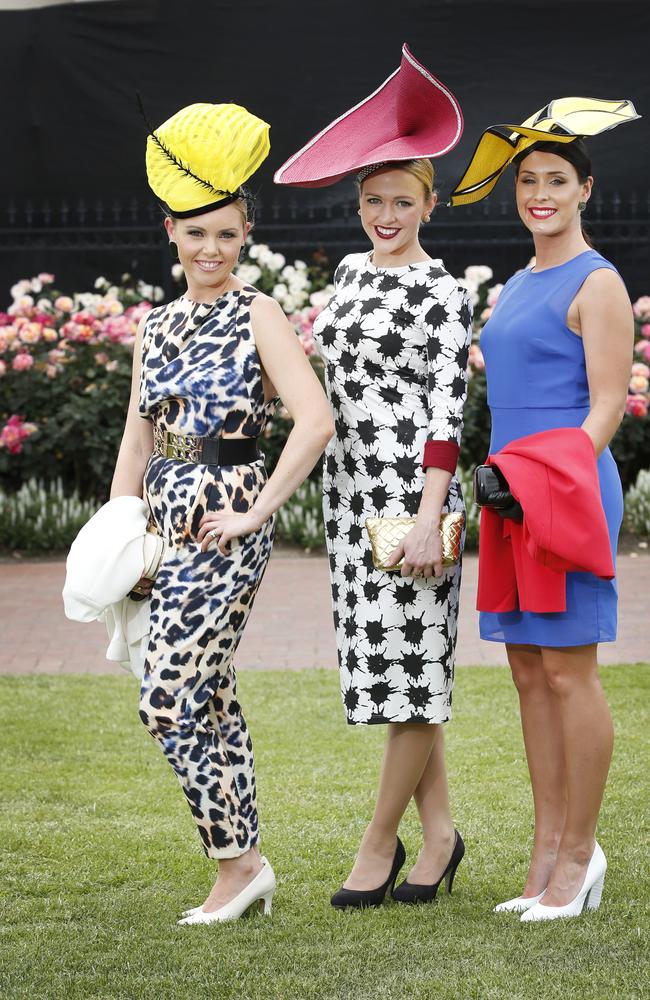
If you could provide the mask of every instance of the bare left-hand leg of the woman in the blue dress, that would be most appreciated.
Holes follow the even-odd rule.
[[[566,816],[564,740],[557,699],[538,646],[506,645],[519,694],[521,727],[533,790],[535,834],[523,896],[537,896],[555,866]]]

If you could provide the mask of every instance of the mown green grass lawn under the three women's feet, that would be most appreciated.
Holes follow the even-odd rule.
[[[74,1000],[647,998],[647,689],[603,670],[617,742],[599,839],[600,910],[520,924],[531,804],[509,673],[458,672],[447,727],[467,845],[434,905],[332,910],[370,815],[382,727],[345,725],[333,672],[246,673],[273,915],[178,927],[214,865],[128,678],[0,678],[0,996]],[[419,848],[409,811],[402,839]]]

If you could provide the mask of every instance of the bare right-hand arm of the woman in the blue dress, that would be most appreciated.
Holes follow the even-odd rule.
[[[593,271],[576,297],[585,348],[590,409],[582,425],[596,454],[607,447],[625,413],[634,348],[632,307],[620,277]]]

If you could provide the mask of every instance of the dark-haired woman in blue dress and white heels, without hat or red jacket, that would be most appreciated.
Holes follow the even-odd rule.
[[[538,431],[581,427],[597,455],[615,556],[623,495],[608,443],[625,408],[630,302],[616,269],[582,230],[593,183],[582,140],[528,143],[512,159],[535,263],[510,278],[481,335],[490,454]],[[568,573],[564,612],[481,613],[481,637],[506,644],[535,809],[526,884],[496,909],[525,921],[600,903],[606,860],[594,838],[613,730],[597,644],[616,638],[616,604],[615,580]]]

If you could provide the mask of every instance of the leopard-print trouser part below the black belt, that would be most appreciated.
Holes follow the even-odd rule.
[[[151,595],[140,718],[180,781],[209,858],[259,840],[253,747],[233,655],[271,554],[273,523],[223,555],[196,542],[206,510],[246,511],[263,462],[215,467],[153,456],[145,496],[168,545]]]

